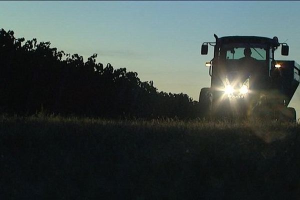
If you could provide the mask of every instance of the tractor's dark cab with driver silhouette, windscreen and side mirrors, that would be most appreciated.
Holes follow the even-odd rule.
[[[272,39],[258,36],[225,36],[217,38],[216,42],[204,42],[214,46],[214,55],[210,65],[211,87],[219,88],[228,78],[240,81],[251,77],[252,87],[263,88],[270,86],[274,62],[274,51],[280,45],[277,37]],[[288,46],[282,43],[282,53],[288,54]],[[202,51],[205,54],[205,51]],[[213,64],[213,67],[212,67]],[[255,84],[254,84],[255,83]]]

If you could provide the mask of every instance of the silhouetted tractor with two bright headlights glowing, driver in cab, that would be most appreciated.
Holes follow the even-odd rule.
[[[223,36],[203,42],[201,54],[213,46],[213,58],[205,63],[210,87],[200,90],[203,117],[260,117],[295,121],[288,107],[300,81],[300,66],[293,60],[276,60],[274,52],[288,55],[288,45],[278,38]]]

